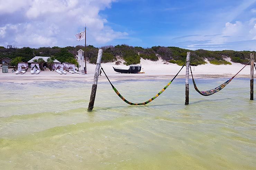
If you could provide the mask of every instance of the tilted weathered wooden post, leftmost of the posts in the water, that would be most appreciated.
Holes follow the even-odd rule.
[[[96,90],[97,90],[97,84],[98,84],[98,78],[99,78],[101,57],[102,57],[102,49],[99,49],[94,79],[93,79],[93,83],[92,83],[92,92],[91,92],[90,102],[89,102],[89,106],[88,106],[88,111],[92,111],[93,106],[94,106],[94,100],[95,100],[95,96],[96,96]]]

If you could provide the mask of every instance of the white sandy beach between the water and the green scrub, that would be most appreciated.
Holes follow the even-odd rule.
[[[168,63],[165,64],[164,61],[150,61],[141,59],[140,61],[144,74],[121,74],[117,73],[113,70],[113,67],[119,68],[127,68],[124,64],[115,65],[113,63],[102,63],[101,66],[104,71],[107,73],[107,76],[111,81],[120,81],[120,80],[156,80],[156,79],[168,79],[171,80],[173,76],[181,69],[181,66],[177,64]],[[231,62],[232,63],[232,62]],[[39,74],[30,74],[30,72],[26,72],[25,74],[15,74],[15,73],[2,73],[2,69],[0,72],[0,82],[17,82],[17,83],[26,83],[26,82],[34,82],[34,81],[65,81],[65,80],[73,80],[73,81],[93,81],[95,64],[86,63],[87,73],[86,75],[80,74],[71,74],[67,73],[58,74],[55,71],[41,71]],[[213,65],[210,63],[200,65],[200,66],[192,66],[193,76],[195,78],[231,78],[235,75],[244,65],[240,63],[232,63],[232,65]],[[179,76],[177,78],[185,78],[185,67],[181,70]],[[9,70],[11,72],[11,70]],[[249,78],[250,77],[250,66],[246,66],[237,77],[240,78]],[[104,74],[99,77],[99,81],[107,81]],[[191,75],[190,75],[191,76]],[[256,76],[256,71],[255,71]]]

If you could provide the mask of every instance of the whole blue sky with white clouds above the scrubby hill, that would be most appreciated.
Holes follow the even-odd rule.
[[[0,46],[256,51],[256,0],[0,0]]]

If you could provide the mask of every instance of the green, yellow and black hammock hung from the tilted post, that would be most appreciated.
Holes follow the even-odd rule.
[[[182,68],[184,67],[184,65],[182,66]],[[182,68],[180,69],[180,71],[182,70]],[[126,102],[127,104],[130,105],[145,105],[148,104],[149,102],[152,102],[155,98],[157,98],[161,93],[163,93],[165,91],[165,89],[167,89],[168,86],[170,86],[170,84],[172,83],[172,81],[178,76],[178,74],[180,73],[180,71],[174,76],[174,78],[159,92],[156,94],[156,96],[154,96],[153,98],[143,102],[143,103],[132,103],[129,102],[128,100],[126,100],[120,93],[119,91],[113,86],[113,84],[110,82],[107,74],[105,73],[105,71],[103,70],[103,68],[101,67],[101,70],[103,71],[103,73],[105,74],[105,76],[107,77],[109,83],[111,84],[113,90],[116,92],[117,96],[119,96],[124,102]]]

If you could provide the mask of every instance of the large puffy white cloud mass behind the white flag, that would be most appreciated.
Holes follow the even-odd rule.
[[[0,21],[0,45],[18,47],[73,46],[74,34],[84,30],[87,42],[103,45],[125,38],[126,32],[115,31],[99,14],[116,0],[0,0],[0,17],[8,15],[8,23]],[[15,18],[19,17],[19,20]],[[7,39],[8,37],[8,39]]]

